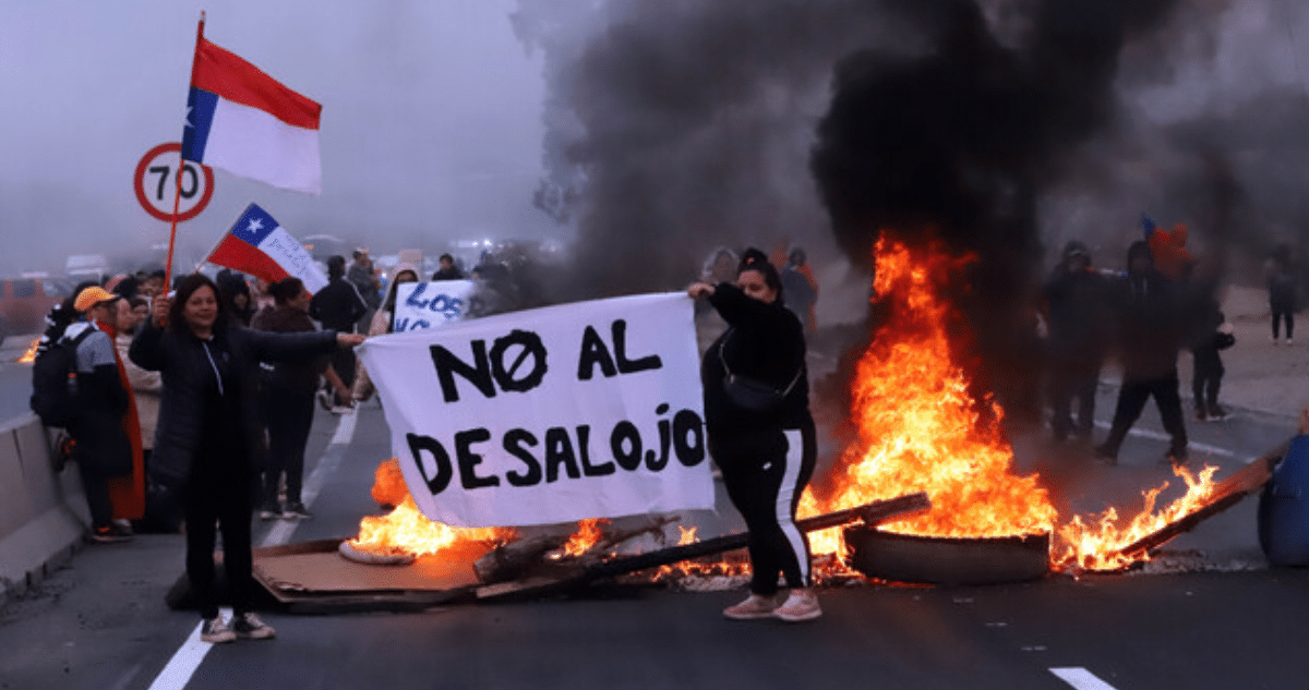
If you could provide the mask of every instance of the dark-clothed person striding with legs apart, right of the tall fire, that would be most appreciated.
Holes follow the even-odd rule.
[[[1111,464],[1118,463],[1118,448],[1127,431],[1145,409],[1145,400],[1153,397],[1164,430],[1172,436],[1168,460],[1174,467],[1181,465],[1186,463],[1186,426],[1177,378],[1177,353],[1185,327],[1182,304],[1173,282],[1155,271],[1145,242],[1134,242],[1127,250],[1127,276],[1115,293],[1113,308],[1123,386],[1118,391],[1113,427],[1097,455]]]

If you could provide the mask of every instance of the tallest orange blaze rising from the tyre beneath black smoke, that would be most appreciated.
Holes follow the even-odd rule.
[[[806,493],[801,515],[927,491],[932,510],[885,525],[910,534],[994,537],[1050,532],[1058,516],[1037,476],[1013,472],[1003,413],[980,414],[950,355],[950,306],[940,297],[971,259],[940,247],[877,243],[878,299],[888,321],[852,384],[857,440],[838,464],[835,489]],[[816,554],[840,553],[839,531],[810,536]]]

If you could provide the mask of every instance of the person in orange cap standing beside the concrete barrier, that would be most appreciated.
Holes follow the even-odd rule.
[[[106,544],[131,538],[131,529],[114,523],[110,480],[131,477],[141,467],[140,446],[134,444],[124,421],[136,426],[132,396],[114,349],[119,295],[92,286],[77,293],[73,308],[86,315],[64,331],[77,344],[77,417],[68,425],[76,446],[73,460],[81,470],[86,507],[90,510],[92,541]],[[139,429],[139,426],[137,426]],[[124,518],[141,518],[124,515]]]

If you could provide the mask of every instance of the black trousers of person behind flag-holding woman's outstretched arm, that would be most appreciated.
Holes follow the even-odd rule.
[[[287,503],[300,503],[305,478],[305,446],[314,423],[314,392],[268,387],[268,459],[263,470],[263,502],[278,502],[278,484],[287,476]]]

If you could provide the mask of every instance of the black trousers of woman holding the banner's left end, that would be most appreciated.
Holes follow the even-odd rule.
[[[183,490],[186,511],[186,578],[203,618],[219,614],[213,587],[213,545],[223,531],[223,567],[232,592],[233,613],[251,610],[254,578],[250,540],[250,478],[192,480]]]

